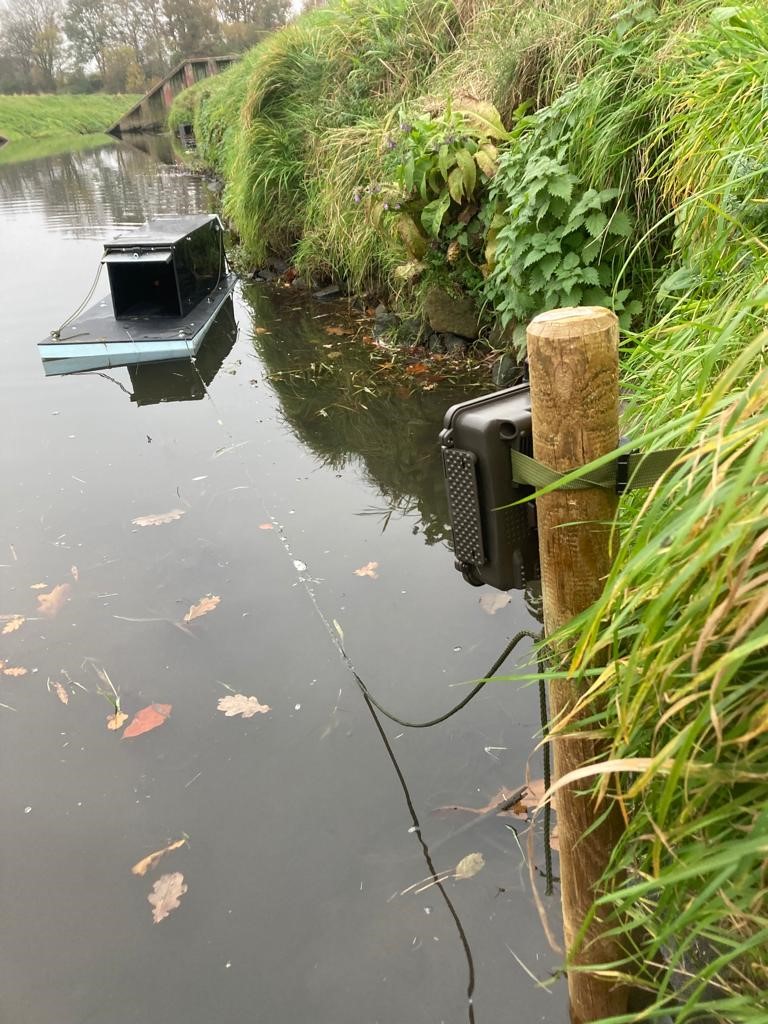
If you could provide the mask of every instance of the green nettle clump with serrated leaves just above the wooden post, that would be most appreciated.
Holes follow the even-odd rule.
[[[630,289],[616,288],[633,230],[620,190],[585,188],[562,142],[518,137],[499,159],[490,197],[483,291],[502,326],[514,326],[516,347],[547,309],[608,306],[625,327],[640,311]]]

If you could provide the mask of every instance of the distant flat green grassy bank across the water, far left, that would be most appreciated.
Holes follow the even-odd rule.
[[[134,95],[0,95],[0,135],[10,142],[104,131],[140,97]]]

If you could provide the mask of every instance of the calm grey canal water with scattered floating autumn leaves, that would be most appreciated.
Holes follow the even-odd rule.
[[[36,343],[103,241],[213,202],[125,145],[0,166],[0,1020],[562,1021],[540,842],[434,813],[541,776],[535,685],[403,729],[332,639],[419,720],[538,628],[453,567],[435,439],[469,392],[389,384],[328,330],[342,309],[256,285],[197,370],[43,374]],[[124,738],[115,692],[170,714]],[[228,717],[237,694],[270,710]],[[471,853],[484,866],[451,878]],[[444,884],[413,888],[433,867]],[[178,906],[155,923],[167,876]]]

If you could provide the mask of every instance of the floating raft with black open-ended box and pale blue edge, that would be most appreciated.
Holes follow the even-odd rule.
[[[213,215],[156,220],[120,234],[104,244],[101,263],[111,294],[39,343],[46,374],[189,358],[237,280]]]

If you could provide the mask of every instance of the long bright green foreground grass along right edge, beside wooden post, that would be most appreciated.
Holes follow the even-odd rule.
[[[672,11],[686,27],[664,38],[665,63],[645,58],[627,100],[643,112],[640,154],[631,138],[605,148],[627,131],[607,69],[583,97],[593,144],[604,139],[674,228],[624,381],[636,430],[688,452],[626,502],[603,596],[568,632],[574,675],[607,660],[585,675],[583,701],[610,757],[650,759],[621,776],[627,831],[601,901],[657,965],[651,1008],[623,1019],[757,1024],[768,1021],[768,10],[690,20],[713,6]],[[580,146],[605,170],[577,132]]]

